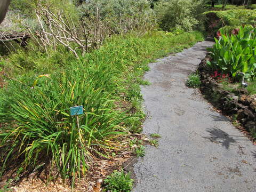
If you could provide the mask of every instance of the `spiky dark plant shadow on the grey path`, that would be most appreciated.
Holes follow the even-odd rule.
[[[213,143],[221,143],[223,147],[229,149],[230,145],[236,143],[236,140],[233,137],[230,137],[228,133],[217,128],[207,129],[207,132],[210,133],[209,137],[203,137],[209,139]]]

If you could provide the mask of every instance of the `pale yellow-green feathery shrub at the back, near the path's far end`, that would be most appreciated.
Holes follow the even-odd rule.
[[[160,0],[155,4],[155,11],[159,26],[163,30],[172,30],[173,28],[191,31],[200,22],[203,25],[203,1],[191,0]]]

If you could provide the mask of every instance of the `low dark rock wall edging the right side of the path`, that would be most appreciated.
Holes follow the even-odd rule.
[[[205,58],[199,64],[198,71],[201,75],[201,92],[223,114],[236,117],[236,119],[249,132],[256,132],[256,95],[247,95],[244,88],[227,91],[211,77],[211,69],[206,65]]]

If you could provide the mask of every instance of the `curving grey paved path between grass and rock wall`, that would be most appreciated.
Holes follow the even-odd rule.
[[[134,165],[134,192],[256,191],[256,146],[185,85],[211,45],[199,42],[150,64],[143,132],[162,138]]]

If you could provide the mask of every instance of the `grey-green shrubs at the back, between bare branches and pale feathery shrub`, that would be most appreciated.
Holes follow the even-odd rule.
[[[138,30],[145,33],[155,27],[155,13],[147,0],[90,0],[79,7],[82,17],[97,17],[116,34]]]

